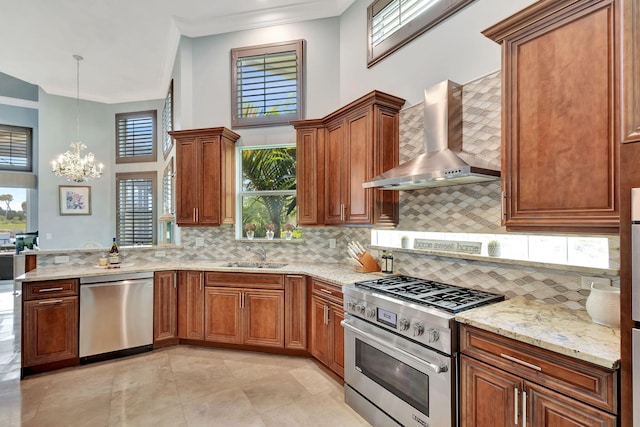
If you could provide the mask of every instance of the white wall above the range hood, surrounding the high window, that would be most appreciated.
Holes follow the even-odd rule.
[[[340,104],[378,89],[423,101],[423,89],[449,79],[464,84],[500,69],[500,47],[481,31],[533,0],[476,0],[400,50],[367,68],[367,6],[356,0],[340,17]]]

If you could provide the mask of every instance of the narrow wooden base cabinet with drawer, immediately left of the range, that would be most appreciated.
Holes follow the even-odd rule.
[[[311,355],[344,378],[343,295],[334,285],[312,281]]]

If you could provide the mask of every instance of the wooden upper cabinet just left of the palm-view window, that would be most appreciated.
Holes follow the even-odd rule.
[[[240,135],[224,127],[169,133],[176,140],[176,223],[233,224]]]

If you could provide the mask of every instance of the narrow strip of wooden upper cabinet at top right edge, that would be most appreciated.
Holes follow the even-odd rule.
[[[640,0],[622,7],[622,142],[640,142]]]

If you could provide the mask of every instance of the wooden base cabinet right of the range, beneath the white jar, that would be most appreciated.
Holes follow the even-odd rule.
[[[462,427],[614,427],[618,372],[466,325]]]

